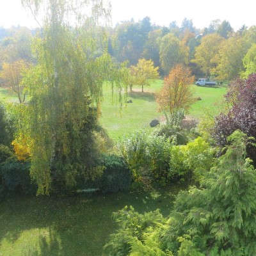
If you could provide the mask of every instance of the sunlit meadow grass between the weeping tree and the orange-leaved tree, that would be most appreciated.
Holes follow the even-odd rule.
[[[132,100],[132,103],[123,104],[120,110],[116,93],[114,92],[112,100],[111,88],[105,85],[100,123],[107,129],[109,136],[118,139],[123,134],[138,129],[150,129],[150,121],[161,115],[157,112],[155,93],[162,86],[163,80],[157,80],[150,86],[145,86],[144,92],[141,92],[141,86],[134,86],[127,97],[127,100]]]

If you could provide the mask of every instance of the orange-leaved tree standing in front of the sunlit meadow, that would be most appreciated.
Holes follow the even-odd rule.
[[[195,77],[191,70],[184,65],[176,65],[164,78],[163,88],[157,93],[156,101],[159,112],[163,112],[167,122],[172,122],[180,110],[188,111],[195,102],[191,85]]]

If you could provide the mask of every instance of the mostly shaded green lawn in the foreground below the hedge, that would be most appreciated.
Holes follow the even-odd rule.
[[[161,209],[167,216],[178,189],[69,197],[17,196],[1,202],[1,256],[97,256],[116,229],[114,211]]]

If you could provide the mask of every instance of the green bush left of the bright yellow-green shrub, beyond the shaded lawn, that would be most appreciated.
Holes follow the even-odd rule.
[[[143,177],[165,183],[170,161],[170,140],[164,136],[136,131],[124,136],[118,143],[118,152],[124,157],[133,178],[140,182]]]

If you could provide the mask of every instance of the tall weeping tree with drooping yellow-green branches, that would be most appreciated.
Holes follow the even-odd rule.
[[[106,53],[99,22],[108,20],[109,6],[102,0],[23,0],[22,4],[36,20],[43,19],[33,44],[37,65],[24,78],[30,100],[22,132],[29,141],[31,178],[38,194],[47,195],[52,179],[72,188],[77,180],[97,172],[93,131],[102,84],[108,81],[113,91],[116,87],[121,100],[128,73]]]

